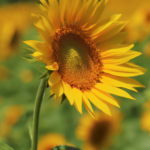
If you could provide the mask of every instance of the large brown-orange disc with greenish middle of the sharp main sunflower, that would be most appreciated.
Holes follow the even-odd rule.
[[[55,34],[52,46],[63,81],[80,90],[91,89],[99,82],[100,51],[81,29],[62,27]]]

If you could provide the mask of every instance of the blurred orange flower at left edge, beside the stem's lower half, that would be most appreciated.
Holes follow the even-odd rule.
[[[11,131],[13,125],[15,125],[23,114],[23,106],[14,105],[10,106],[6,109],[6,113],[4,114],[4,119],[0,124],[0,138],[6,137]]]

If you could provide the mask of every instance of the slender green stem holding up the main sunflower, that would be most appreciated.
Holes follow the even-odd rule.
[[[44,91],[46,89],[46,84],[47,84],[47,79],[42,79],[36,96],[34,114],[33,114],[32,150],[37,150],[39,114],[40,114],[42,99],[44,96]]]

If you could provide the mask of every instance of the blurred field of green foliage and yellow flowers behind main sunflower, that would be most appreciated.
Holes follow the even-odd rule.
[[[22,41],[40,38],[31,18],[37,11],[34,2],[0,1],[0,142],[15,150],[31,147],[37,78],[44,72],[43,64],[23,59],[32,52]],[[112,117],[97,112],[97,121],[85,109],[79,114],[67,100],[58,106],[47,88],[38,150],[61,144],[83,150],[150,150],[150,0],[109,0],[103,17],[116,13],[122,14],[120,20],[130,20],[123,29],[128,32],[125,43],[134,43],[133,50],[142,53],[132,61],[147,69],[135,77],[145,88],[138,88],[138,93],[128,91],[136,101],[116,97],[121,108],[113,107]]]

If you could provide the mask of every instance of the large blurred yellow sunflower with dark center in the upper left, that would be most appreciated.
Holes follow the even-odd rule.
[[[32,3],[15,3],[0,8],[0,61],[16,53],[21,36],[32,24]]]

